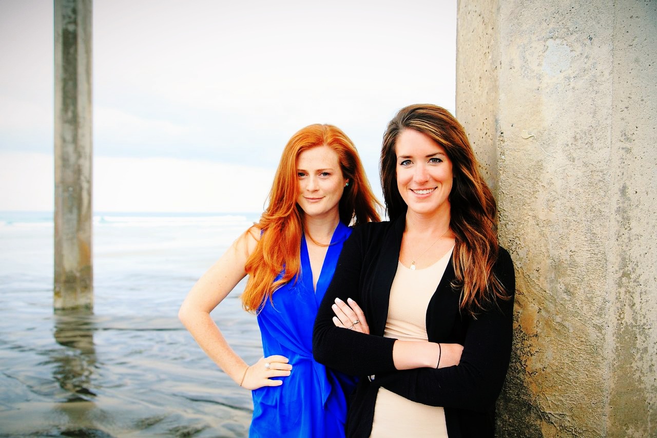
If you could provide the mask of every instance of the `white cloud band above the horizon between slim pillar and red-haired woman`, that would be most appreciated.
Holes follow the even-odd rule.
[[[274,172],[173,158],[99,157],[94,210],[260,212]]]

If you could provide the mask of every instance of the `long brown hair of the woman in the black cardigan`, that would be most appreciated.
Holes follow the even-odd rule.
[[[410,105],[397,112],[383,136],[380,174],[390,220],[407,210],[397,189],[395,150],[397,136],[407,129],[436,141],[452,162],[449,227],[456,235],[452,286],[461,290],[461,308],[475,316],[487,303],[508,297],[493,274],[499,248],[495,198],[482,178],[465,130],[454,116],[436,105]]]

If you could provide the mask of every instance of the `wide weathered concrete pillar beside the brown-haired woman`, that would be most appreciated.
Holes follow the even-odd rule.
[[[457,118],[516,265],[500,437],[657,430],[657,2],[459,0]]]

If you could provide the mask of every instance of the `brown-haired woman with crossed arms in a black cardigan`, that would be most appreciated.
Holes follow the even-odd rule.
[[[344,245],[315,358],[369,376],[351,401],[350,437],[493,436],[515,289],[495,199],[463,127],[434,105],[399,110],[380,164],[390,222]],[[369,327],[353,324],[361,314]]]

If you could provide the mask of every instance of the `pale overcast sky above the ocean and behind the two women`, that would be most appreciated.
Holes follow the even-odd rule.
[[[311,123],[377,194],[388,120],[455,107],[456,0],[93,2],[96,211],[258,212]],[[53,2],[0,0],[0,210],[53,207]]]

